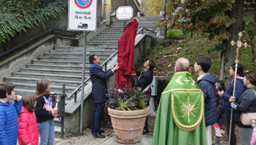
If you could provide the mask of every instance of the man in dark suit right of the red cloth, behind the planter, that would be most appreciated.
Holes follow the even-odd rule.
[[[147,60],[143,65],[144,70],[142,72],[136,73],[136,76],[138,76],[138,78],[136,78],[135,75],[131,75],[131,79],[133,84],[139,86],[142,92],[147,93],[147,95],[151,95],[150,86],[153,81],[153,69],[156,67],[156,64],[154,63],[153,60]],[[147,119],[148,118],[146,118],[145,126],[142,132],[143,135],[149,132]]]

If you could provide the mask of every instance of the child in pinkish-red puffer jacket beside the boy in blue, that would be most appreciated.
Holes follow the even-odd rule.
[[[38,145],[37,119],[34,108],[37,102],[34,95],[24,96],[19,114],[18,140],[20,145]]]

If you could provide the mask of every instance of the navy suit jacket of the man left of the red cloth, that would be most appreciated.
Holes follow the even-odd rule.
[[[106,79],[114,75],[112,70],[106,72],[99,67],[90,68],[90,77],[92,81],[92,98],[94,103],[104,103],[107,100],[107,82]]]

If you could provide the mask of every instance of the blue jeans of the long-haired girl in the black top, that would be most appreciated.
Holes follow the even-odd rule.
[[[37,123],[37,126],[41,137],[39,145],[52,145],[55,136],[53,119]]]

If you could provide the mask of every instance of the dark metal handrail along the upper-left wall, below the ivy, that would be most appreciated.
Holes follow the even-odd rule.
[[[21,48],[21,46],[25,46],[25,45],[26,45],[27,48],[28,48],[28,47],[30,46],[29,44],[31,44],[30,42],[32,42],[32,41],[34,41],[35,39],[41,37],[42,35],[47,34],[48,32],[51,32],[51,33],[53,34],[54,31],[62,31],[62,32],[73,33],[73,34],[74,34],[74,37],[75,37],[75,32],[64,31],[64,30],[58,30],[58,29],[52,28],[52,29],[50,29],[50,30],[48,30],[48,31],[43,32],[43,33],[40,34],[40,35],[37,35],[37,37],[34,37],[34,38],[30,39],[29,41],[26,41],[26,42],[24,42],[23,44],[18,45],[18,46],[16,46],[15,48],[12,48],[12,49],[8,50],[8,51],[5,52],[5,53],[2,53],[2,54],[0,55],[0,59],[2,59],[3,56],[7,55],[8,53],[12,52],[13,50],[17,50],[17,49]]]

